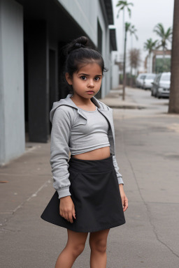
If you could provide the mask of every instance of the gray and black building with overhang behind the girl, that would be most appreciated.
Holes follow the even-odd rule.
[[[25,142],[48,142],[52,103],[65,98],[62,47],[90,38],[109,68],[116,50],[111,0],[0,0],[0,165],[24,153]]]

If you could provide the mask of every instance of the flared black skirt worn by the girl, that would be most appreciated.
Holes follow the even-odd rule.
[[[102,160],[69,160],[69,188],[76,219],[70,223],[59,214],[57,191],[41,218],[75,232],[97,232],[125,223],[113,156]]]

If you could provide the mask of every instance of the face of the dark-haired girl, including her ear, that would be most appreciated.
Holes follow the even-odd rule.
[[[72,85],[74,96],[92,98],[101,87],[102,76],[101,67],[92,63],[81,66],[72,78],[66,73],[66,81]]]

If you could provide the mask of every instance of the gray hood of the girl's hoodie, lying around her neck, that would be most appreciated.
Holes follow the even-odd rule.
[[[71,100],[71,96],[73,96],[72,94],[68,94],[66,96],[66,98],[62,98],[59,101],[56,101],[55,103],[53,103],[52,106],[52,110],[50,111],[50,122],[52,123],[53,120],[53,116],[55,114],[55,110],[57,109],[57,107],[59,107],[60,105],[67,105],[67,106],[71,106],[74,107],[76,110],[78,110],[78,112],[81,114],[79,107],[73,103],[73,101]],[[105,105],[104,103],[101,103],[101,101],[97,100],[94,96],[91,98],[92,102],[94,103],[94,105],[96,105],[96,107],[98,107],[99,110],[111,110],[110,107],[108,107],[107,105]],[[85,117],[84,114],[81,114],[83,117]],[[85,117],[86,118],[86,117]]]

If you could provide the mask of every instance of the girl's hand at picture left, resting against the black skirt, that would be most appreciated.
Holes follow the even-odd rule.
[[[59,214],[71,223],[73,223],[73,217],[76,219],[75,206],[70,195],[60,198]]]

